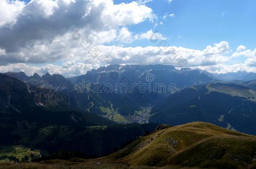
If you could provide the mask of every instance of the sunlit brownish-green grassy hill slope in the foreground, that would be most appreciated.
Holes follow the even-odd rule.
[[[218,168],[256,167],[256,136],[205,122],[166,127],[138,137],[124,149],[100,159],[1,164],[0,168]]]

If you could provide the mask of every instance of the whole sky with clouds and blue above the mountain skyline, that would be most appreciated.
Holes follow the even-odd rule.
[[[0,0],[0,72],[72,77],[109,64],[256,72],[255,6],[255,0]]]

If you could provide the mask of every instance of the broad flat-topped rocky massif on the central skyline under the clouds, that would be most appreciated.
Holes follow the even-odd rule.
[[[89,71],[82,76],[68,78],[68,80],[73,83],[81,83],[82,80],[85,80],[86,83],[110,83],[112,85],[126,83],[131,85],[138,83],[138,81],[146,82],[146,75],[148,74],[154,75],[154,83],[175,83],[179,88],[212,80],[212,78],[198,70],[190,68],[177,70],[175,67],[168,65],[110,65]]]

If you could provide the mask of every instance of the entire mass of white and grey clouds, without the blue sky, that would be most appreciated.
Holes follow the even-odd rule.
[[[157,24],[153,10],[145,5],[150,1],[114,4],[113,0],[31,0],[26,4],[21,0],[1,0],[0,72],[24,71],[29,75],[50,72],[66,77],[77,76],[98,68],[102,56],[109,64],[179,66],[168,56],[168,48],[158,47],[162,45],[161,41],[167,44],[165,35],[152,29],[142,33],[129,30],[131,25],[145,20]],[[168,17],[175,15],[165,13],[163,19]],[[134,40],[150,40],[155,46],[123,47],[123,43]],[[226,41],[208,45],[204,50],[170,48],[178,53],[177,57],[187,61],[188,67],[222,73],[256,71],[256,49],[246,49],[243,45],[238,46],[234,53]],[[97,55],[92,49],[97,50]],[[225,65],[237,57],[247,60]],[[34,66],[36,63],[45,65]]]

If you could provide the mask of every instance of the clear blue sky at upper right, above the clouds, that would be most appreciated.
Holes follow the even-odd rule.
[[[24,0],[28,3],[30,0]],[[134,0],[114,0],[115,4],[131,3]],[[185,48],[203,50],[206,45],[228,41],[235,49],[243,44],[256,48],[256,1],[255,0],[152,0],[146,5],[164,25],[154,28],[146,21],[130,26],[134,33],[149,29],[158,30],[168,38],[168,43]],[[165,13],[174,18],[162,19]],[[157,45],[149,40],[136,41],[125,46]]]

